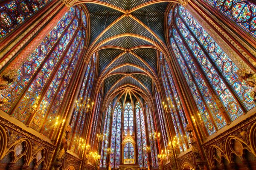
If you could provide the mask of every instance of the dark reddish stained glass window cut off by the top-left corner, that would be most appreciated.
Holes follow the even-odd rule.
[[[0,40],[51,0],[10,0],[0,6]]]

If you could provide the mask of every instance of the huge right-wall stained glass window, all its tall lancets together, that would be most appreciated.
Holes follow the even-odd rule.
[[[172,28],[172,50],[196,101],[200,119],[211,135],[227,125],[224,112],[231,121],[243,114],[236,97],[247,110],[255,107],[249,95],[250,88],[239,81],[236,64],[183,6],[177,8],[175,25],[178,29]],[[164,77],[165,74],[171,87],[174,87],[170,79],[172,75],[167,69]],[[163,80],[167,82],[164,77]],[[173,91],[176,99],[175,93]]]

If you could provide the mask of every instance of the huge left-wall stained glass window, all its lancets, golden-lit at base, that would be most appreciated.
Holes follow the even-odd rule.
[[[63,115],[57,113],[86,44],[81,10],[73,6],[64,14],[17,70],[17,80],[1,94],[3,111],[50,138],[62,123]]]

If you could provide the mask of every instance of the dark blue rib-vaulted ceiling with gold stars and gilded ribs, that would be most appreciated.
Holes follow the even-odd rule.
[[[121,99],[128,91],[137,98],[153,98],[152,84],[159,84],[157,54],[167,49],[164,15],[169,2],[78,1],[90,14],[88,52],[98,52],[97,88],[103,85],[105,99]]]

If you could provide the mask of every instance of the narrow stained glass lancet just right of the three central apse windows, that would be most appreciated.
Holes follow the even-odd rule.
[[[147,123],[148,123],[148,134],[152,134],[155,131],[153,115],[151,113],[151,109],[146,105],[146,115],[147,115]],[[157,142],[153,139],[153,136],[149,136],[150,148],[151,148],[151,161],[152,167],[158,166],[158,157],[157,157]]]

